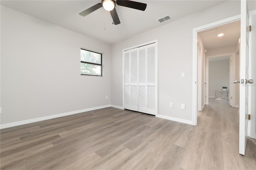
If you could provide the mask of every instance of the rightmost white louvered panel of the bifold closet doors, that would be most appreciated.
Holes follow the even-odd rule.
[[[156,82],[157,82],[157,63],[156,63],[156,45],[150,44],[146,47],[147,60],[146,60],[146,74],[147,74],[147,105],[146,110],[148,114],[156,115],[157,113],[157,94],[156,94]]]

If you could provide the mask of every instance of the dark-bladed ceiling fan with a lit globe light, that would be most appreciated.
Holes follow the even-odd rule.
[[[99,8],[103,7],[105,10],[110,11],[110,14],[112,16],[113,22],[115,25],[120,24],[120,20],[118,18],[117,12],[116,12],[116,4],[120,6],[125,6],[128,8],[133,8],[136,10],[142,10],[144,11],[147,7],[147,4],[141,3],[141,2],[134,2],[131,0],[102,0],[101,3],[98,3],[94,6],[91,6],[90,8],[84,10],[83,12],[80,12],[79,15],[86,16],[95,10],[98,10]]]

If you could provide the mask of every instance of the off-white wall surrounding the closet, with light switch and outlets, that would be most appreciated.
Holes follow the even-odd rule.
[[[111,103],[122,106],[122,49],[158,40],[158,114],[192,122],[192,30],[238,14],[240,1],[228,1],[113,44]],[[182,72],[186,78],[180,77]]]

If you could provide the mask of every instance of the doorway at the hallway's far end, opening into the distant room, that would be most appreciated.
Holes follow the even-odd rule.
[[[238,98],[239,102],[239,91],[236,91],[236,86],[238,85],[233,83],[233,80],[239,77],[236,73],[238,68],[239,63],[236,62],[235,53],[206,57],[206,105],[208,105],[209,98],[226,98],[229,100],[231,107],[239,107],[239,103],[237,104],[236,102],[236,98]],[[222,90],[222,87],[227,87],[227,92],[221,91],[219,93],[218,90]]]

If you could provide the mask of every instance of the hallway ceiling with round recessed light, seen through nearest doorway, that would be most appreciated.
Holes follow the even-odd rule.
[[[217,35],[224,33],[224,36]],[[240,38],[240,20],[199,32],[205,49],[236,45]]]

